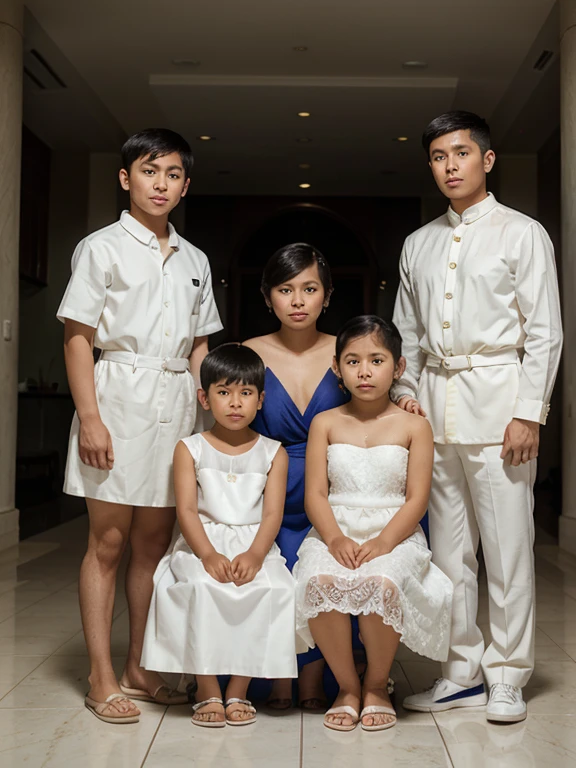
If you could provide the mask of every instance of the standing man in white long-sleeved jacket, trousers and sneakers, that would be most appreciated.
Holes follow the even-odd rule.
[[[407,238],[394,322],[406,374],[394,396],[434,431],[433,559],[454,583],[443,678],[407,709],[487,703],[526,717],[534,669],[533,484],[562,346],[554,252],[538,222],[486,191],[494,165],[484,120],[449,112],[423,136],[446,214]],[[491,643],[476,623],[476,551],[488,575]]]

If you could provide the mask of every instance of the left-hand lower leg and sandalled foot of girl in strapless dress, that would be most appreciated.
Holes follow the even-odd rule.
[[[349,705],[360,711],[361,687],[352,651],[352,622],[350,616],[338,611],[320,613],[308,622],[312,637],[334,673],[340,692],[335,707]],[[348,714],[328,715],[336,725],[352,725]]]

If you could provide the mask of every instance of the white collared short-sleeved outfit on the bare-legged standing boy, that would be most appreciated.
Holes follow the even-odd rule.
[[[127,211],[120,221],[82,240],[59,320],[95,329],[102,350],[157,358],[188,358],[194,339],[222,329],[205,254],[170,227],[170,256]],[[172,506],[172,454],[191,434],[196,391],[177,374],[100,360],[95,366],[100,415],[112,436],[114,468],[84,465],[74,417],[66,493],[136,506]],[[168,407],[167,407],[168,406]]]

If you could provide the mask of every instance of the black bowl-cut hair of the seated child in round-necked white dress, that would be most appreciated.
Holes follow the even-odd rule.
[[[209,352],[200,366],[200,383],[208,392],[211,384],[222,379],[226,384],[246,384],[264,391],[266,368],[262,358],[250,347],[237,342],[221,344]]]

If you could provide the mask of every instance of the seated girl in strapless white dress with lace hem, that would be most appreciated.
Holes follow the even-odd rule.
[[[297,632],[320,647],[340,686],[325,725],[382,730],[396,722],[386,683],[399,641],[432,659],[448,652],[452,583],[432,564],[419,525],[432,430],[390,401],[404,371],[392,323],[374,315],[350,320],[338,334],[334,366],[351,400],[316,416],[310,429],[305,505],[314,527],[294,569]],[[359,617],[366,647],[362,685],[350,615]]]

